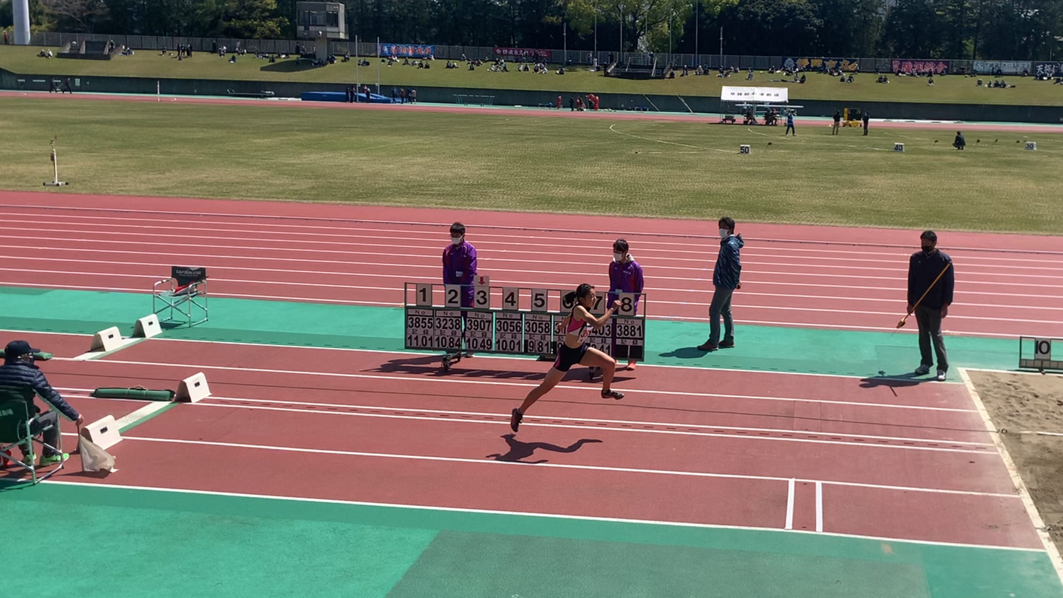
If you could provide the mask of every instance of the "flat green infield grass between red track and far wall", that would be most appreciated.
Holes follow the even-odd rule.
[[[275,103],[275,102],[274,102]],[[62,107],[60,107],[62,106]],[[0,180],[55,193],[1063,233],[1063,135],[3,98]],[[904,153],[892,151],[895,142]],[[752,154],[739,153],[739,145]]]

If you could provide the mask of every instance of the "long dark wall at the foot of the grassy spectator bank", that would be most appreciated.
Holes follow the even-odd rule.
[[[55,77],[61,79],[60,77]],[[0,69],[0,87],[5,89],[48,90],[47,76],[12,74]],[[66,79],[63,77],[62,79]],[[154,94],[156,81],[163,94],[182,96],[225,96],[236,93],[273,92],[277,97],[298,98],[303,92],[343,92],[345,83],[301,83],[286,81],[218,81],[209,79],[145,79],[135,77],[81,77],[79,92],[112,94]],[[36,80],[36,82],[34,82]],[[71,81],[73,79],[71,78]],[[376,92],[375,85],[370,85]],[[381,94],[391,95],[390,85],[382,85]],[[417,87],[421,102],[452,103],[455,95],[493,96],[494,105],[538,105],[557,101],[557,92],[525,89],[475,89],[462,87]],[[562,105],[568,110],[570,93],[561,94]],[[586,95],[584,93],[583,95]],[[706,96],[643,96],[635,94],[601,94],[602,109],[631,110],[648,106],[651,111],[688,112],[687,105],[698,114],[718,114],[720,98]],[[805,107],[800,116],[830,116],[834,110],[860,107],[871,112],[872,118],[932,119],[996,122],[1063,122],[1063,106],[988,105],[988,104],[933,104],[918,102],[855,102],[824,100],[793,100]]]

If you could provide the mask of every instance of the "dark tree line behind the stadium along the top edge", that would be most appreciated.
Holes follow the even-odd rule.
[[[297,0],[30,0],[34,30],[293,38]],[[827,57],[1056,60],[1063,0],[344,0],[352,38]],[[0,28],[12,0],[0,0]]]

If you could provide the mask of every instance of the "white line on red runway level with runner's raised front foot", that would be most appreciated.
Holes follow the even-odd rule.
[[[333,371],[305,371],[305,370],[291,370],[291,369],[270,369],[270,368],[252,368],[252,367],[235,367],[235,366],[220,366],[220,365],[197,365],[197,364],[180,364],[180,363],[159,363],[159,362],[135,362],[135,361],[122,361],[122,360],[105,360],[100,362],[89,362],[99,364],[117,364],[117,365],[141,365],[148,367],[179,367],[183,369],[193,369],[193,370],[218,370],[218,371],[252,371],[256,373],[280,373],[284,376],[313,376],[313,377],[324,377],[324,378],[348,378],[348,379],[361,379],[361,380],[384,380],[389,382],[403,381],[403,382],[425,382],[429,384],[487,384],[490,386],[516,386],[519,388],[533,388],[538,386],[535,382],[508,382],[502,380],[454,380],[445,378],[421,378],[421,377],[410,377],[410,376],[391,376],[391,375],[372,375],[372,373],[347,373],[347,372],[333,372]],[[706,370],[706,375],[711,375],[711,370]],[[590,392],[587,385],[576,385],[576,384],[558,384],[555,386],[560,389],[568,391],[583,391]],[[943,411],[951,413],[971,413],[975,410],[972,409],[958,409],[958,408],[944,408],[944,406],[928,406],[928,405],[901,405],[894,403],[867,403],[860,401],[839,401],[839,400],[826,400],[826,399],[793,399],[789,397],[773,397],[763,395],[724,395],[718,393],[689,393],[682,391],[654,391],[654,389],[643,389],[643,388],[626,388],[625,393],[631,395],[665,395],[674,397],[695,397],[695,398],[721,398],[721,399],[756,399],[756,400],[767,400],[767,401],[784,401],[793,402],[795,400],[803,401],[816,401],[824,404],[850,404],[858,406],[871,406],[871,408],[887,408],[887,409],[911,409],[918,411]]]

